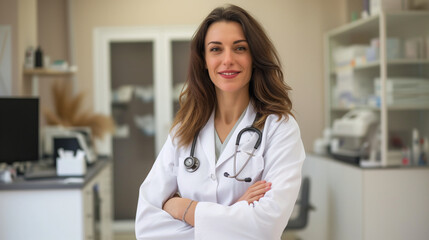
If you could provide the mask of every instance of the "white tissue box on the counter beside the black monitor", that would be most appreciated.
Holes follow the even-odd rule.
[[[72,152],[71,152],[72,153]],[[86,161],[82,151],[78,151],[76,157],[61,154],[57,158],[58,176],[83,176],[86,173]]]

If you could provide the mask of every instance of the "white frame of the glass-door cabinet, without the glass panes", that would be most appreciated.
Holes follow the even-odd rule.
[[[111,115],[110,48],[112,42],[153,42],[155,151],[159,153],[173,119],[171,42],[190,40],[196,26],[101,27],[94,29],[94,111]],[[171,101],[166,101],[171,99]],[[111,136],[96,143],[101,154],[111,155]]]

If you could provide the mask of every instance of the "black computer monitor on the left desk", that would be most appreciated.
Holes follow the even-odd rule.
[[[39,159],[39,99],[0,97],[0,162]]]

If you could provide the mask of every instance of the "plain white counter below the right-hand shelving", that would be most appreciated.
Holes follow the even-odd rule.
[[[360,168],[308,154],[310,212],[302,239],[428,239],[429,167]]]

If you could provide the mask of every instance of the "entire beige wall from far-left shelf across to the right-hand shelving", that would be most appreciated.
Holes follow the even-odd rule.
[[[268,0],[263,4],[257,0],[231,1],[259,20],[277,47],[286,81],[293,88],[294,113],[307,150],[312,149],[314,139],[321,135],[325,126],[323,33],[345,23],[349,18],[346,13],[354,1]],[[79,67],[76,87],[88,93],[86,104],[91,108],[94,28],[197,25],[210,10],[224,3],[221,0],[2,0],[0,21],[12,25],[12,41],[18,43],[13,49],[13,93],[21,95],[28,92],[28,86],[24,84],[28,81],[22,79],[24,51],[27,44],[36,46],[39,41],[51,60],[66,59]],[[67,12],[71,13],[70,16]],[[70,30],[73,33],[71,42],[68,41],[69,26],[72,26]],[[74,49],[72,52],[69,52],[70,46]],[[41,81],[42,107],[52,106],[52,81]]]

